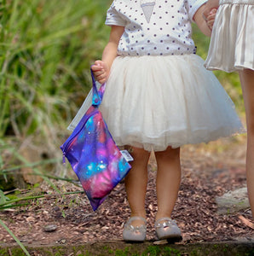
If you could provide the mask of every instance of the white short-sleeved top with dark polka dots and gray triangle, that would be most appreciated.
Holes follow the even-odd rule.
[[[118,55],[195,53],[193,15],[206,0],[114,0],[106,25],[124,26]]]

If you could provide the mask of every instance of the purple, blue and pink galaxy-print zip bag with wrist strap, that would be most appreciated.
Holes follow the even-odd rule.
[[[72,131],[71,136],[61,145],[61,150],[64,160],[66,157],[77,174],[95,211],[129,172],[130,164],[114,143],[98,109],[105,84],[97,90],[92,71],[91,75],[92,105]]]

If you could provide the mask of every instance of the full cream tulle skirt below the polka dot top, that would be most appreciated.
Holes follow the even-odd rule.
[[[118,56],[100,108],[118,146],[148,151],[244,131],[234,103],[198,55]]]

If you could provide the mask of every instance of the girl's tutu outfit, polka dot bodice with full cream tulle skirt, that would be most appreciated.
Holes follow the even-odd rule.
[[[125,27],[100,107],[118,146],[163,151],[244,131],[234,103],[195,55],[191,22],[204,3],[115,0],[108,9],[106,24]]]

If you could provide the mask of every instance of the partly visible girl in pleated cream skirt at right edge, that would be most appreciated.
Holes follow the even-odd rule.
[[[204,11],[207,22],[219,0],[210,0]],[[213,19],[213,17],[211,18]],[[205,67],[237,71],[243,91],[247,125],[246,177],[254,216],[254,0],[221,0],[213,26]]]

